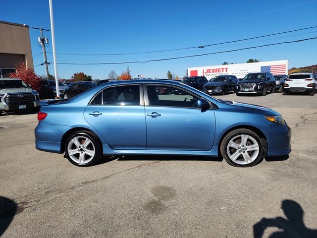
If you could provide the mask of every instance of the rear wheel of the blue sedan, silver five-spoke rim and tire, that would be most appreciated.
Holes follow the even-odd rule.
[[[66,140],[65,154],[67,159],[74,165],[93,165],[102,155],[102,146],[93,132],[77,131]]]

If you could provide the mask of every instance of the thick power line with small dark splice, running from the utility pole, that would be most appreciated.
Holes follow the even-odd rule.
[[[306,27],[306,28],[301,28],[301,29],[296,29],[296,30],[291,30],[291,31],[278,32],[278,33],[273,33],[273,34],[268,34],[268,35],[263,35],[263,36],[256,36],[256,37],[251,37],[251,38],[245,38],[245,39],[240,39],[240,40],[235,40],[235,41],[227,41],[227,42],[214,43],[214,44],[203,45],[203,46],[193,46],[193,47],[185,47],[185,48],[177,48],[177,49],[161,50],[161,51],[114,53],[114,54],[71,54],[71,53],[56,53],[56,54],[58,54],[58,55],[70,55],[70,56],[121,56],[121,55],[149,54],[149,53],[158,53],[158,52],[167,52],[167,51],[179,51],[179,50],[188,50],[188,49],[194,49],[194,48],[205,48],[205,47],[209,47],[209,46],[223,45],[223,44],[234,43],[234,42],[239,42],[239,41],[253,40],[253,39],[258,39],[258,38],[263,38],[263,37],[268,37],[268,36],[275,36],[275,35],[295,32],[295,31],[312,29],[312,28],[316,28],[316,27],[317,26],[311,26],[311,27]],[[48,53],[52,54],[51,52],[48,52]]]

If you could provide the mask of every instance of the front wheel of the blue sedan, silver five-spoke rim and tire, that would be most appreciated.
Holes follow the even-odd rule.
[[[220,152],[229,165],[251,167],[263,158],[263,142],[252,130],[236,129],[223,138]]]

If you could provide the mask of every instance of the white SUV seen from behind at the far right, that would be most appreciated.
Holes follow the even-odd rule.
[[[312,73],[293,73],[285,80],[283,95],[308,92],[311,96],[317,92],[317,82]]]

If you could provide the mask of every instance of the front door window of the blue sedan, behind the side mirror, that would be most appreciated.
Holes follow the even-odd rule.
[[[199,97],[176,87],[148,85],[150,106],[198,108]]]

